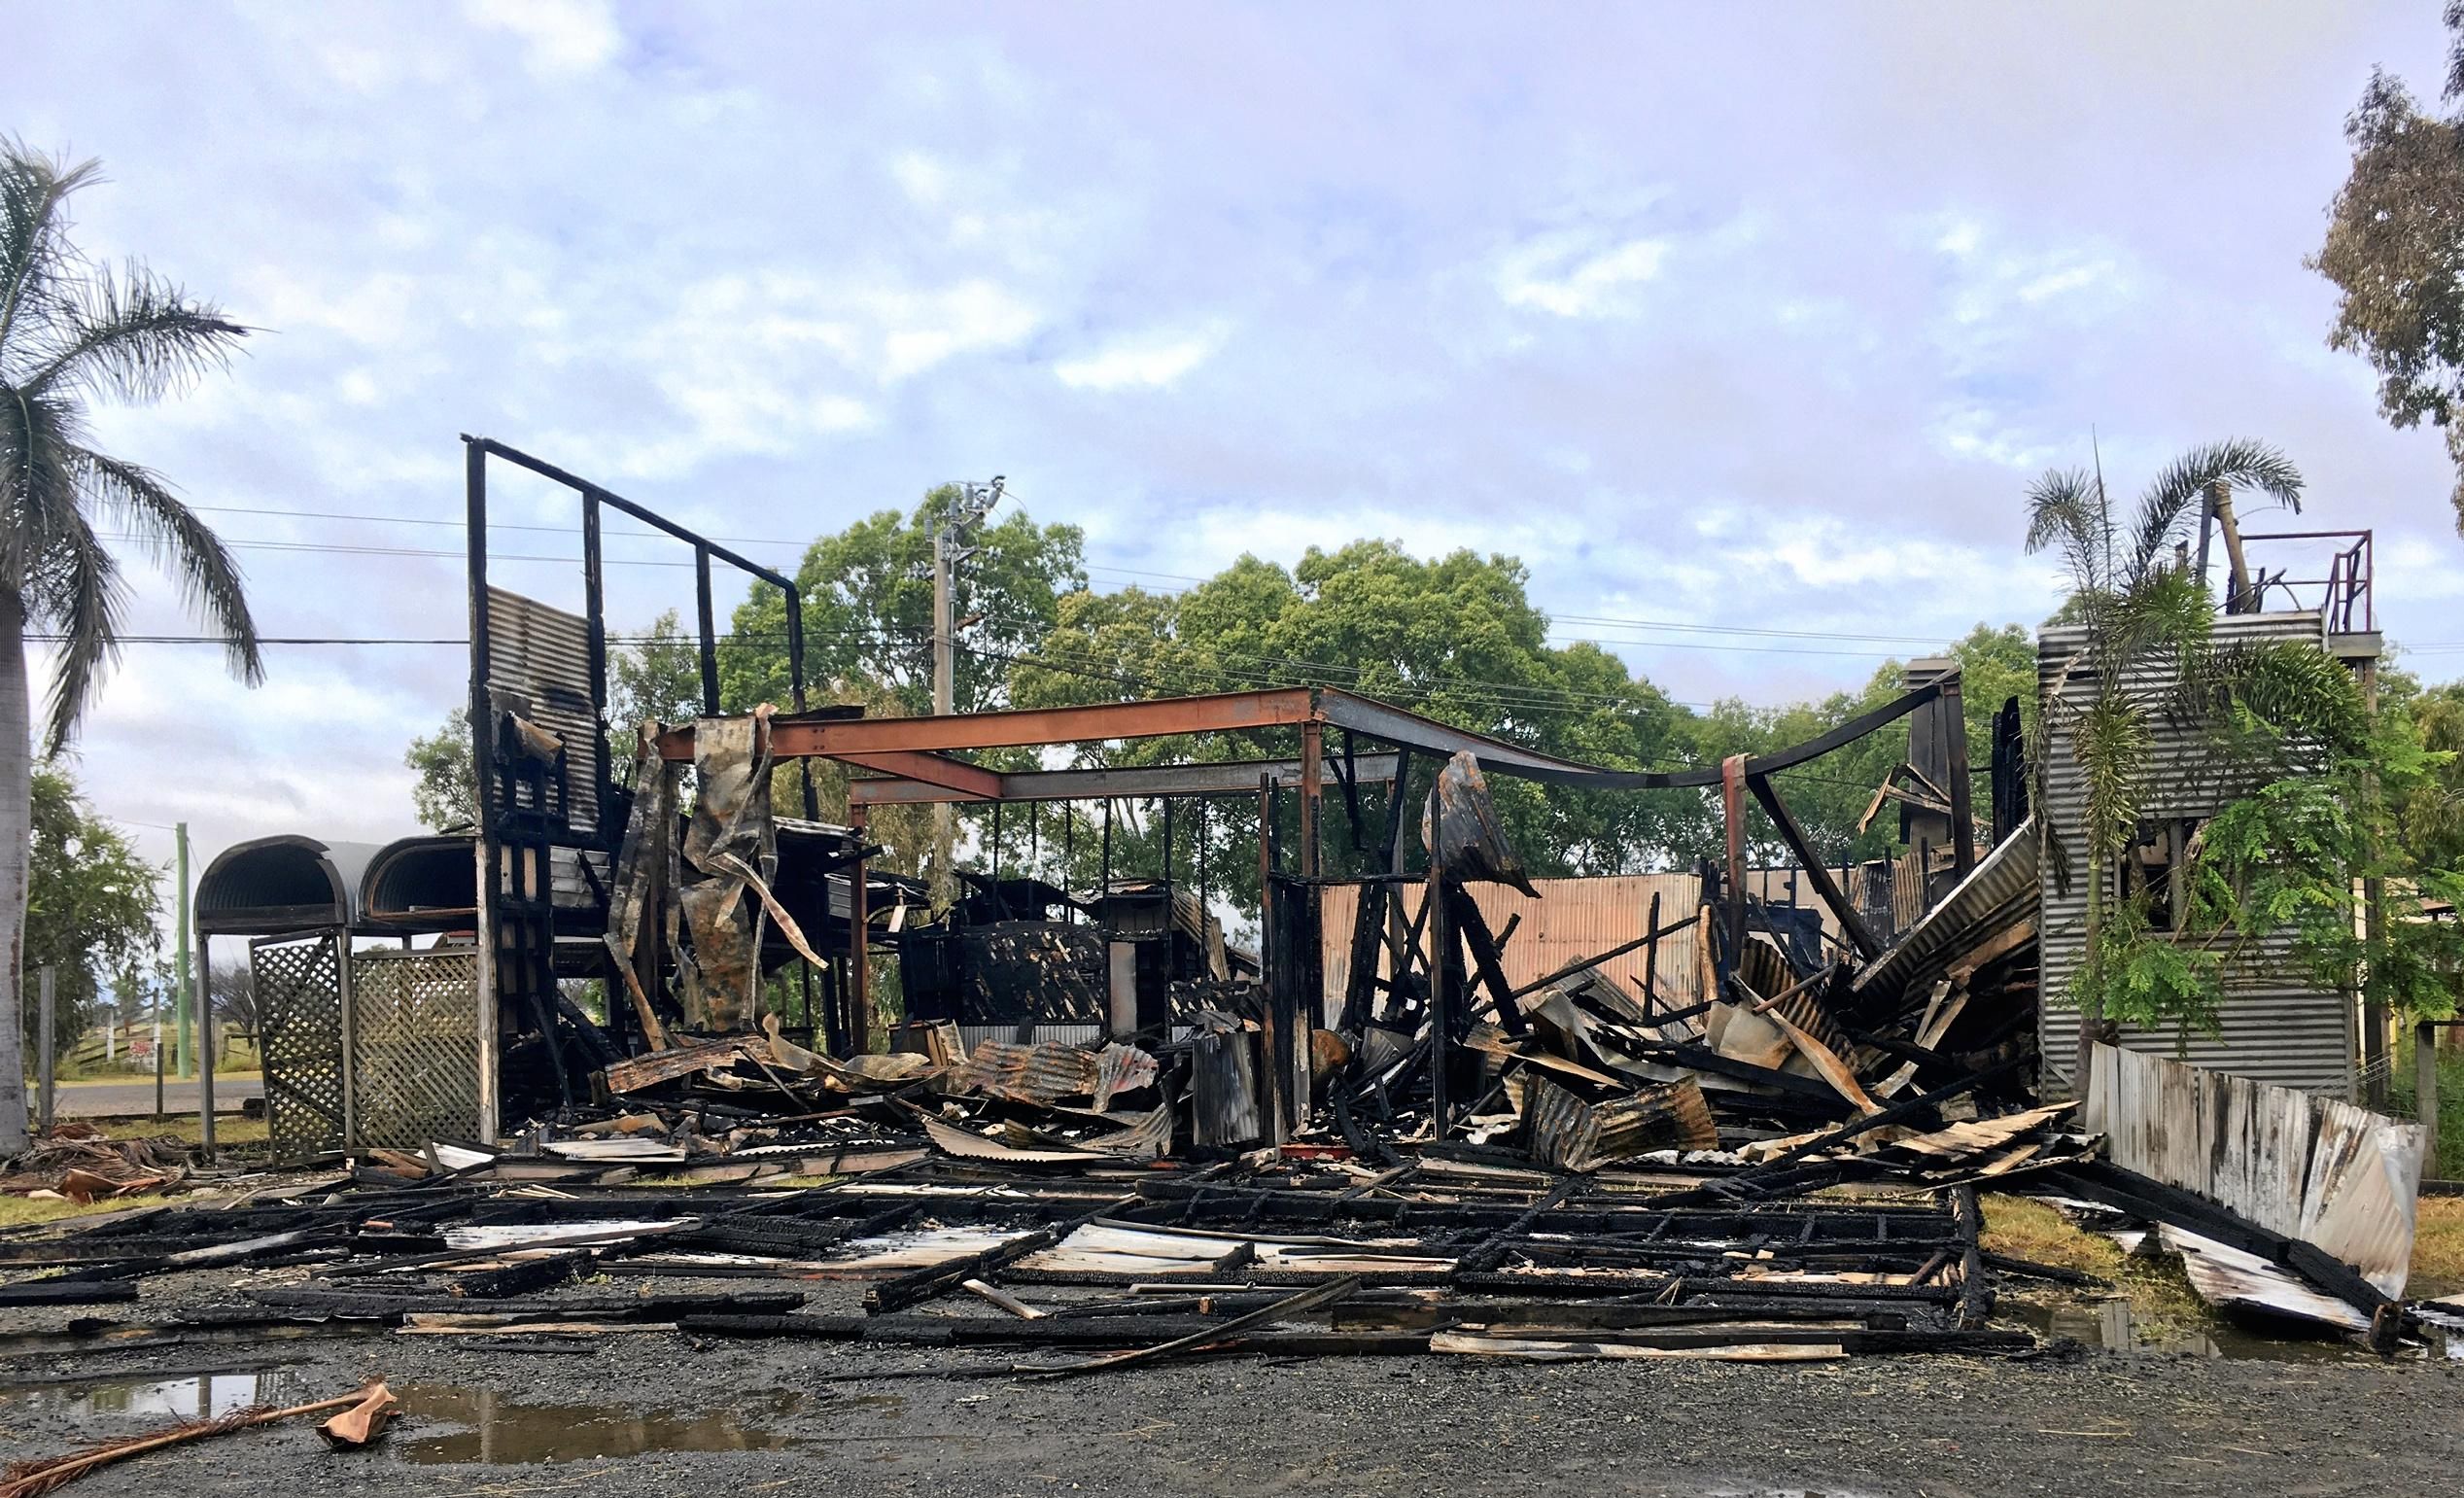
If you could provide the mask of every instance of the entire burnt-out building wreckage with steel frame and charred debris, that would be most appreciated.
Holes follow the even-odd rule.
[[[582,498],[586,616],[488,586],[490,458]],[[342,1173],[0,1237],[0,1264],[59,1266],[5,1271],[0,1301],[128,1303],[150,1276],[241,1259],[306,1281],[17,1333],[0,1355],[99,1335],[643,1326],[993,1348],[1052,1377],[1239,1350],[2028,1350],[2030,1333],[1993,1323],[2003,1286],[2085,1276],[1986,1249],[1981,1190],[2173,1244],[2220,1301],[2314,1313],[2380,1348],[2415,1330],[2388,1274],[2402,1257],[2368,1232],[2361,1188],[2407,1188],[2417,1141],[2365,1116],[2319,1126],[2338,1143],[2304,1160],[2375,1151],[2378,1175],[2328,1170],[2346,1185],[2314,1202],[2306,1175],[2255,1192],[2161,1151],[2107,1151],[2099,1136],[2136,1119],[2119,1091],[2085,1109],[2035,1094],[2043,838],[2023,737],[2006,705],[1979,823],[1949,663],[1816,739],[1695,771],[1565,761],[1333,687],[872,719],[806,707],[793,579],[500,443],[473,439],[468,461],[485,791],[476,857],[451,845],[429,862],[498,875],[419,904],[357,897],[325,860],[323,936],[301,936],[296,902],[217,926],[266,936],[259,990],[283,1013],[355,1027],[350,1055],[310,1032],[269,1059],[276,1143]],[[687,542],[705,601],[717,557],[781,589],[788,621],[791,710],[724,717],[702,611],[702,717],[641,724],[626,786],[594,732],[604,505]],[[1868,818],[1895,803],[1907,855],[1831,870],[1777,776],[1902,719],[1910,751]],[[1158,739],[1262,756],[966,759]],[[806,816],[774,813],[774,766],[808,759],[855,771],[850,825],[816,820],[811,776],[796,776]],[[1717,793],[1725,857],[1624,904],[1602,894],[1614,882],[1533,880],[1493,776]],[[1254,956],[1225,944],[1202,857],[1124,877],[1106,835],[1096,882],[1072,892],[1005,875],[993,820],[991,870],[931,909],[872,867],[865,825],[904,803],[1158,798],[1205,816],[1252,796]],[[1754,808],[1789,867],[1747,865]],[[1326,867],[1335,816],[1350,875]],[[1582,924],[1552,912],[1582,899],[1614,931],[1567,946]],[[350,936],[397,909],[375,929],[441,941],[387,956],[414,976],[362,981],[375,956]],[[892,953],[902,1010],[872,990]],[[599,978],[604,1022],[559,978]],[[801,1005],[781,1003],[788,981]],[[426,1008],[387,998],[414,993]],[[476,1015],[439,993],[476,993]],[[389,1072],[357,1072],[365,1037],[434,1042],[439,1015],[466,1025],[456,1047],[404,1042]],[[411,1091],[451,1101],[387,1111]],[[633,1296],[601,1276],[752,1286]]]

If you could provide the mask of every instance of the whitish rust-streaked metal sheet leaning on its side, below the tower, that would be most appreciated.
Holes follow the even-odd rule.
[[[2117,1165],[2405,1291],[2430,1143],[2420,1124],[2109,1045],[2094,1052],[2082,1121]]]

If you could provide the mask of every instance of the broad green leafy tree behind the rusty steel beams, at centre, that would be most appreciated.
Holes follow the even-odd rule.
[[[1266,685],[1333,685],[1439,722],[1496,734],[1547,754],[1611,769],[1676,764],[1683,712],[1599,646],[1550,646],[1547,616],[1533,606],[1528,574],[1510,557],[1454,552],[1417,559],[1395,542],[1311,549],[1284,569],[1242,557],[1178,596],[1124,589],[1062,599],[1060,621],[1015,663],[1018,705],[1116,702]],[[1331,751],[1340,751],[1331,744]],[[1163,764],[1207,756],[1289,756],[1296,734],[1220,734],[1092,744],[1082,764]],[[1417,798],[1429,766],[1419,766]],[[1700,816],[1700,796],[1565,793],[1498,776],[1491,781],[1508,835],[1542,875],[1629,872],[1653,867],[1668,828]],[[1284,798],[1286,816],[1296,816]],[[1326,867],[1368,870],[1385,825],[1385,793],[1363,788],[1363,835],[1353,843],[1340,796],[1326,801]],[[1092,882],[1101,848],[1101,808],[1037,813],[1035,838],[1052,857],[1074,845],[1074,882]],[[1173,818],[1173,870],[1198,867],[1198,808]],[[1217,801],[1207,813],[1210,885],[1244,907],[1257,904],[1254,798]],[[1417,823],[1414,823],[1417,825]],[[1294,838],[1296,825],[1279,835]],[[1015,838],[1015,833],[1013,833]],[[1163,867],[1161,808],[1119,808],[1114,870]],[[1417,848],[1417,835],[1407,833]]]

